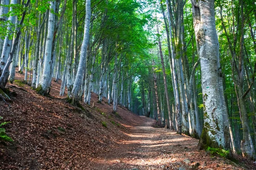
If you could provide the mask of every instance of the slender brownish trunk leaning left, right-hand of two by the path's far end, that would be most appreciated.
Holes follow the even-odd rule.
[[[158,25],[157,25],[157,34],[159,34]],[[164,91],[165,91],[165,94],[166,94],[166,103],[167,103],[167,110],[168,110],[168,117],[169,117],[169,126],[170,126],[170,129],[173,129],[173,122],[172,122],[172,119],[170,119],[172,117],[172,111],[171,111],[170,99],[169,99],[168,88],[167,88],[166,71],[165,71],[165,66],[164,66],[164,62],[163,62],[163,51],[162,51],[162,45],[161,45],[160,37],[158,37],[158,46],[159,46],[159,52],[160,52],[160,57],[161,57],[161,65],[162,65],[162,70],[163,70]]]

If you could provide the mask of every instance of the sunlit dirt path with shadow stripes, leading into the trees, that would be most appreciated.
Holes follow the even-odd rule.
[[[129,127],[129,139],[118,148],[99,156],[92,163],[93,170],[237,170],[236,164],[204,151],[196,151],[197,139],[177,135],[172,130],[154,128],[153,119],[136,127]]]

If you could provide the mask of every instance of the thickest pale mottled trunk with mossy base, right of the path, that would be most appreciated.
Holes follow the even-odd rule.
[[[204,127],[198,149],[226,147],[223,103],[218,79],[218,36],[215,26],[214,0],[192,0],[193,22],[201,64],[201,87],[204,105]],[[218,89],[218,90],[216,90]]]

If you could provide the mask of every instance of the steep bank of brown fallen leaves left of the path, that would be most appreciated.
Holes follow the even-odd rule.
[[[87,169],[90,160],[105,153],[127,136],[126,126],[140,123],[140,117],[126,108],[97,103],[95,108],[84,105],[86,111],[65,102],[58,96],[61,82],[52,81],[51,95],[41,96],[22,83],[17,74],[14,84],[8,84],[17,96],[0,101],[1,122],[13,143],[0,144],[0,169]],[[105,126],[106,127],[105,127]]]

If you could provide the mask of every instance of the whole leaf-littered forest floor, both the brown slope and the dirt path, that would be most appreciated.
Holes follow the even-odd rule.
[[[49,96],[24,84],[24,74],[7,88],[14,96],[0,100],[1,122],[14,142],[0,142],[0,170],[256,170],[253,161],[236,163],[197,151],[198,139],[158,128],[154,119],[125,107],[97,102],[85,111],[59,96],[52,81]],[[0,123],[1,123],[0,122]]]

